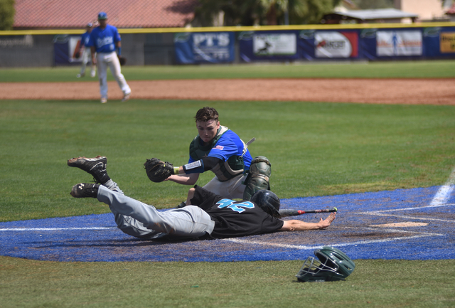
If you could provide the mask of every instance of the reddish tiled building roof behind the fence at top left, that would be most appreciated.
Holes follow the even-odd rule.
[[[16,0],[15,29],[84,28],[100,11],[117,28],[184,27],[197,0]]]

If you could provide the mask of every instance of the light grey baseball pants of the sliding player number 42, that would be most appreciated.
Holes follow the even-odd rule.
[[[118,186],[117,186],[118,187]],[[157,211],[154,206],[100,186],[98,200],[109,205],[120,230],[137,238],[198,238],[212,233],[215,222],[197,206]]]

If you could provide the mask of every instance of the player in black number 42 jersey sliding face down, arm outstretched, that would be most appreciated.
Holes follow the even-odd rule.
[[[97,198],[107,203],[114,214],[117,227],[137,238],[212,239],[277,231],[316,230],[327,228],[335,219],[335,213],[331,213],[325,220],[320,218],[318,223],[282,221],[271,211],[279,204],[279,198],[271,191],[257,191],[253,201],[233,201],[200,186],[188,191],[188,206],[156,211],[154,206],[124,196],[107,175],[106,165],[105,156],[68,160],[68,166],[87,171],[97,182],[73,186],[71,196]]]

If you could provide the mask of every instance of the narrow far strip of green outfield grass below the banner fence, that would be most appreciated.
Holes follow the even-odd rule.
[[[79,67],[1,68],[0,83],[86,82],[75,78]],[[296,63],[272,65],[124,66],[127,80],[208,78],[454,78],[455,60],[371,63]],[[109,80],[113,80],[110,73]]]

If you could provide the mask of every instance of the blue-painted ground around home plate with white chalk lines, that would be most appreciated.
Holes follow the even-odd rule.
[[[333,245],[353,259],[454,259],[455,195],[435,203],[439,186],[282,200],[282,208],[338,208],[326,230],[272,233],[225,240],[139,240],[118,230],[111,213],[0,223],[0,255],[55,261],[304,260]],[[433,202],[433,203],[432,203]],[[432,204],[432,206],[430,206]],[[292,219],[318,221],[326,214]],[[290,218],[286,218],[290,219]],[[372,227],[387,223],[416,227]]]

